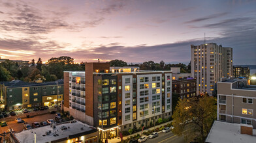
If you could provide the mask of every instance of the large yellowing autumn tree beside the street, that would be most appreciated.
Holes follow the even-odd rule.
[[[216,116],[216,98],[203,96],[180,99],[172,115],[172,132],[184,135],[187,142],[204,142]]]

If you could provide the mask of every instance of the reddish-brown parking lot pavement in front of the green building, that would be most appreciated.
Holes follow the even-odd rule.
[[[28,113],[22,112],[22,110],[16,111],[16,116],[10,116],[8,115],[5,118],[1,118],[0,121],[5,121],[7,122],[7,126],[1,127],[0,126],[0,133],[3,133],[4,131],[7,132],[8,129],[13,129],[15,132],[20,132],[23,131],[24,128],[24,123],[29,123],[32,125],[33,122],[44,122],[48,119],[54,119],[55,114],[50,114],[52,111],[56,111],[57,109],[54,107],[50,107],[50,109],[46,110],[37,110],[33,111],[33,109],[29,109]],[[27,115],[29,115],[29,118],[27,118]],[[16,123],[15,119],[16,118],[21,118],[22,123]]]

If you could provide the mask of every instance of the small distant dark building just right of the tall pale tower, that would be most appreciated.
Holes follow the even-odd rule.
[[[246,77],[249,79],[249,66],[233,66],[233,77]]]

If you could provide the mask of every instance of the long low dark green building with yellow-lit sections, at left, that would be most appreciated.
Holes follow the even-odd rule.
[[[25,83],[15,80],[0,82],[1,107],[7,110],[50,106],[63,101],[63,79],[45,83]],[[58,93],[57,93],[58,91]],[[57,97],[59,95],[59,97]]]

